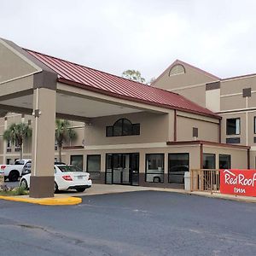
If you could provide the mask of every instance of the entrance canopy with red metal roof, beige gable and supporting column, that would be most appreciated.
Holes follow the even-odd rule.
[[[90,123],[113,114],[173,109],[219,119],[183,96],[0,39],[0,115],[32,114],[32,197],[53,196],[55,118]]]

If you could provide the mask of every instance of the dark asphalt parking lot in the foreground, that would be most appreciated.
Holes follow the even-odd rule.
[[[255,204],[160,191],[0,201],[2,255],[255,255]]]

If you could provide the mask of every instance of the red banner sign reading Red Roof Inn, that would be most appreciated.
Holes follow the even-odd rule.
[[[256,196],[256,170],[222,170],[220,193]]]

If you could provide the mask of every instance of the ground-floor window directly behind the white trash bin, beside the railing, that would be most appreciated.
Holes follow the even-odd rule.
[[[189,153],[168,154],[168,182],[184,183],[185,172],[189,172]]]

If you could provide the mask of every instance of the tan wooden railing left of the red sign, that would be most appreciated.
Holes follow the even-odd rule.
[[[190,170],[190,190],[219,192],[220,174],[216,169]]]

